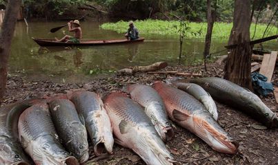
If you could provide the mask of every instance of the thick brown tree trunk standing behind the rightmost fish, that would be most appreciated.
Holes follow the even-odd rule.
[[[238,45],[228,54],[224,78],[252,90],[250,23],[250,0],[235,0],[233,27],[228,45]]]

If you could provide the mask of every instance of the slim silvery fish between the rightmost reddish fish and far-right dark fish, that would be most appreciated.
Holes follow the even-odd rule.
[[[217,120],[218,113],[215,101],[211,98],[210,94],[206,92],[202,87],[194,83],[174,83],[174,85],[186,93],[192,95],[197,100],[199,100],[210,112],[213,118]]]

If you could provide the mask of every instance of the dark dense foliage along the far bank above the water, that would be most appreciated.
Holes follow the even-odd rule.
[[[255,16],[259,10],[275,10],[277,0],[251,0]],[[6,3],[0,0],[1,3]],[[108,11],[109,17],[118,19],[184,19],[206,21],[206,1],[204,0],[23,0],[25,12],[30,17],[48,17],[55,19],[61,15],[78,15],[84,4],[101,5]],[[232,21],[234,0],[212,0],[213,9],[217,9],[217,21]]]

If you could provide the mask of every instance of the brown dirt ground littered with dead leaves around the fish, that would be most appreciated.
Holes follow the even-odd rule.
[[[222,76],[223,66],[210,65],[208,72],[202,66],[197,67],[166,67],[163,70],[179,70],[181,72],[201,73],[203,76]],[[110,91],[119,90],[130,83],[150,85],[155,80],[165,80],[175,77],[167,74],[137,73],[133,76],[119,74],[92,78],[90,82],[79,84],[57,84],[49,80],[26,80],[21,75],[11,74],[8,78],[6,98],[3,104],[36,96],[51,96],[65,94],[70,89],[86,89],[105,96]],[[182,77],[182,76],[180,76]],[[189,78],[189,77],[186,77]],[[272,77],[273,85],[278,87],[278,69]],[[278,108],[274,96],[262,98],[264,103],[278,115]],[[219,124],[240,144],[236,155],[217,153],[199,137],[175,123],[175,138],[166,145],[181,164],[278,164],[278,129],[267,130],[258,126],[258,122],[248,115],[217,102]],[[92,150],[90,150],[92,153]],[[144,164],[144,162],[130,149],[115,144],[113,155],[104,155],[103,159],[90,154],[86,164]]]

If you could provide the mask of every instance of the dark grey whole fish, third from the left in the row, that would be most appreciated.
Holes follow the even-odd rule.
[[[75,105],[67,99],[54,99],[49,103],[52,121],[63,146],[73,153],[80,163],[89,158],[87,131],[83,119],[75,109]]]

